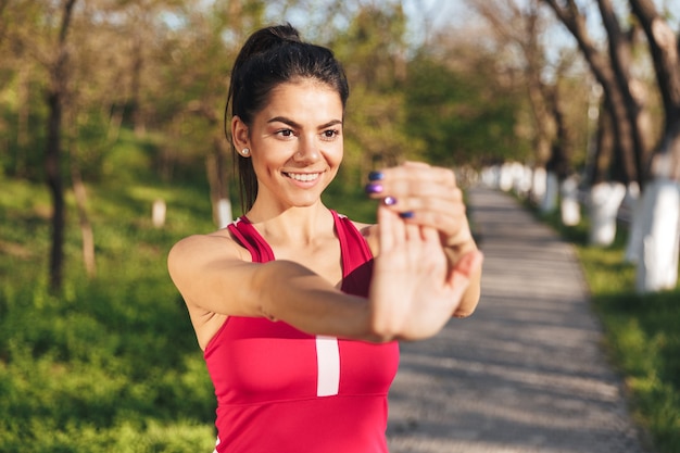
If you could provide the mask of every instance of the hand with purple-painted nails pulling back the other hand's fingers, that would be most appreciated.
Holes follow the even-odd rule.
[[[476,250],[453,171],[406,162],[372,176],[366,186],[370,198],[382,199],[408,224],[437,229],[444,247],[461,249],[456,250],[459,256]]]

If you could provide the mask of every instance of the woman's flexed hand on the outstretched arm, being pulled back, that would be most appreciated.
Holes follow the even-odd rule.
[[[406,223],[382,205],[378,240],[368,294],[374,330],[403,340],[436,335],[459,305],[481,253],[470,252],[450,267],[435,228]]]

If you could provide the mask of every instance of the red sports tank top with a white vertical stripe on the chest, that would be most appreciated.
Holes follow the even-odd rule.
[[[367,295],[368,244],[332,212],[342,291]],[[228,226],[253,262],[274,260],[245,217]],[[217,453],[386,453],[396,342],[311,336],[284,322],[229,316],[205,348],[217,397]]]

